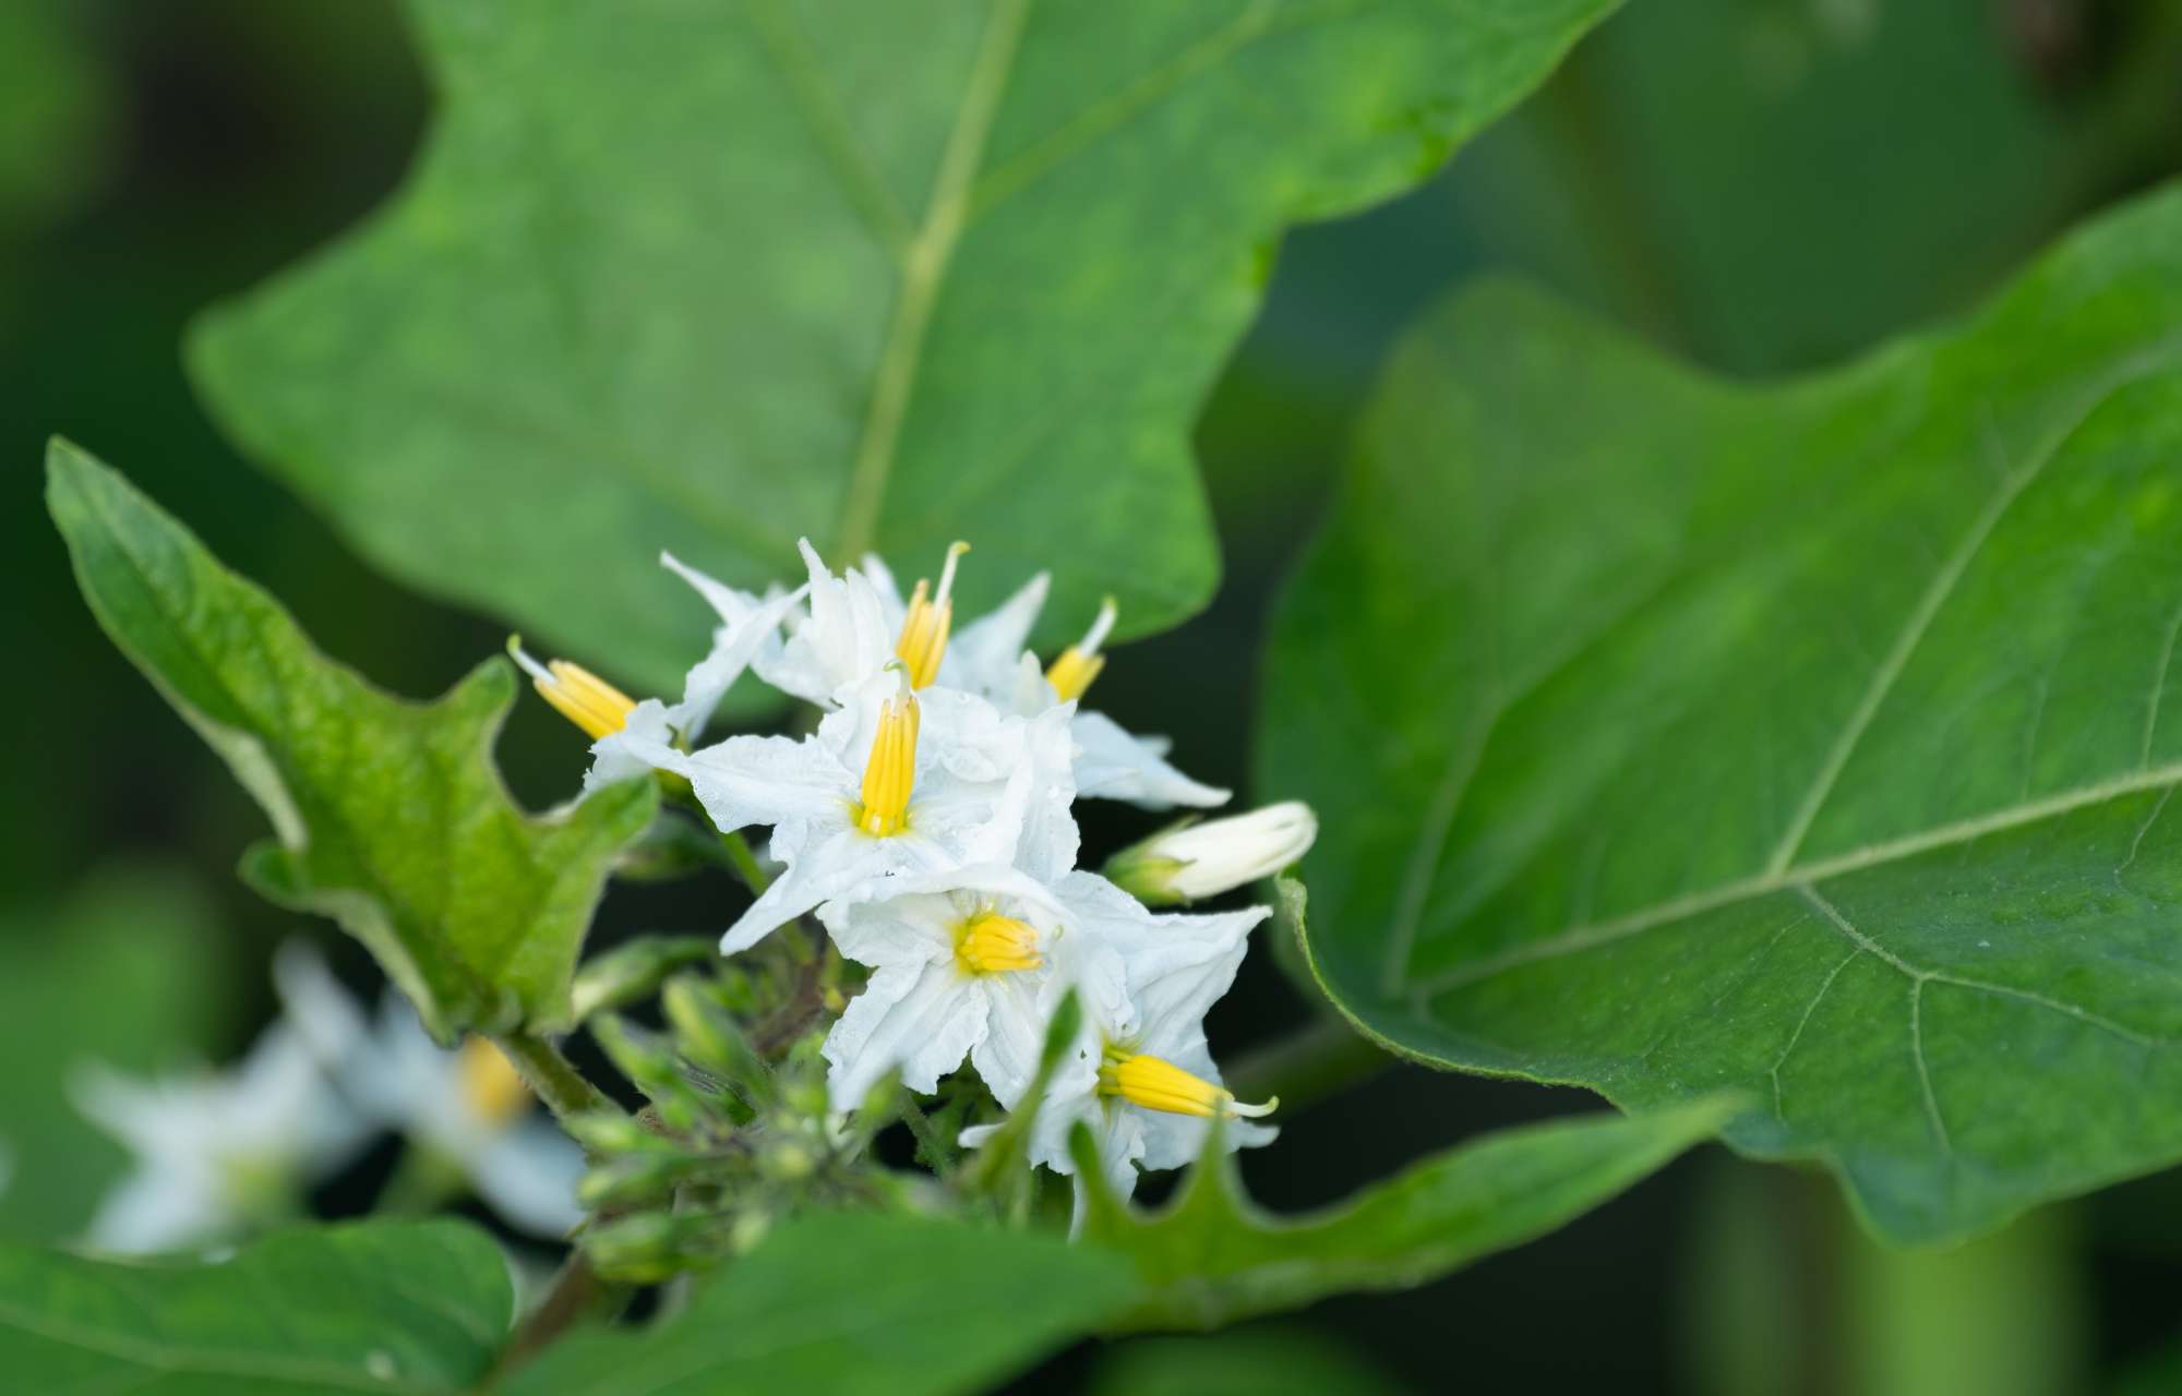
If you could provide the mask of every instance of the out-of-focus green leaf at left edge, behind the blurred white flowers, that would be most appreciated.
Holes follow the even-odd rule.
[[[92,1217],[124,1156],[70,1104],[68,1075],[201,1051],[223,949],[205,894],[166,868],[103,868],[65,901],[0,912],[0,1235],[50,1241]]]

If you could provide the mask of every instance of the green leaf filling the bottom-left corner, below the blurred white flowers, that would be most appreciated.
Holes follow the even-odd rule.
[[[511,1309],[500,1248],[460,1222],[295,1230],[209,1265],[0,1248],[11,1392],[454,1396]]]

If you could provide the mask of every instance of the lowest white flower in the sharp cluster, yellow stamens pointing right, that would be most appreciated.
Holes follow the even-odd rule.
[[[1226,1117],[1226,1147],[1270,1143],[1276,1130],[1250,1119],[1272,1110],[1274,1102],[1237,1104],[1220,1086],[1220,1069],[1204,1043],[1204,1012],[1235,982],[1250,927],[1270,910],[1161,916],[1104,877],[1074,872],[1065,881],[1076,929],[1124,947],[1132,1019],[1111,1016],[1095,997],[1084,997],[1084,1034],[1054,1073],[1032,1123],[1032,1163],[1074,1174],[1069,1132],[1084,1121],[1108,1184],[1128,1198],[1137,1191],[1137,1169],[1196,1160],[1215,1115]],[[1017,1102],[1002,1104],[1012,1108]],[[984,1143],[995,1128],[964,1130],[962,1143]]]

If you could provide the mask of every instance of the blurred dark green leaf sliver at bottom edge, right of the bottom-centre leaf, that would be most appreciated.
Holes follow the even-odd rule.
[[[1139,1337],[1091,1376],[1091,1396],[1396,1396],[1362,1357],[1307,1331]]]

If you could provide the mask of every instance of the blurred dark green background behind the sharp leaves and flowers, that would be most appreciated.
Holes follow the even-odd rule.
[[[233,1058],[271,1014],[264,966],[288,934],[364,975],[329,927],[231,877],[262,816],[76,598],[37,497],[46,436],[122,465],[391,689],[439,691],[504,635],[367,571],[216,436],[179,366],[196,310],[369,216],[428,113],[386,0],[0,2],[0,1235],[74,1235],[122,1167],[65,1099],[72,1062]],[[2175,170],[2173,0],[1636,0],[1420,192],[1287,240],[1198,430],[1224,591],[1126,650],[1102,698],[1172,731],[1194,774],[1246,783],[1268,598],[1390,340],[1453,284],[1532,277],[1719,373],[1796,373],[1959,312],[2077,216]],[[502,761],[546,805],[580,744],[524,705]],[[714,920],[700,894],[615,892],[602,938]],[[1259,955],[1213,1040],[1244,1054],[1309,1012]],[[1582,1108],[1388,1069],[1294,1112],[1248,1176],[1274,1206],[1320,1204],[1477,1130]],[[2178,1280],[2182,1180],[1898,1256],[1824,1180],[1706,1150],[1427,1289],[1218,1346],[1087,1344],[1023,1385],[2182,1389],[2182,1370],[2167,1387],[2145,1365],[2182,1337]]]

